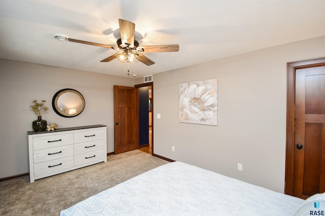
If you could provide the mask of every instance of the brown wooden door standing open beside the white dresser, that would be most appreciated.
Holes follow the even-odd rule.
[[[137,89],[114,85],[114,153],[138,149]]]

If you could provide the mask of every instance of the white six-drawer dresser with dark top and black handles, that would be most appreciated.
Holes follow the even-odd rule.
[[[30,131],[27,134],[30,183],[107,161],[105,125],[59,128],[51,132]]]

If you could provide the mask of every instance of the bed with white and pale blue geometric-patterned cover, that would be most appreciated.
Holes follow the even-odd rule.
[[[305,200],[171,162],[62,210],[68,215],[292,215]],[[309,215],[309,214],[308,214]]]

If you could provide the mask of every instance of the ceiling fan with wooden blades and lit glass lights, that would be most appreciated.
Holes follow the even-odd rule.
[[[68,40],[80,44],[104,47],[119,51],[101,62],[110,62],[114,59],[118,59],[120,62],[127,63],[140,61],[149,66],[154,64],[154,62],[145,57],[142,53],[178,52],[179,50],[179,45],[139,46],[139,42],[134,38],[136,24],[123,19],[118,19],[118,23],[121,38],[116,41],[117,46],[98,44],[96,42],[89,42],[73,38],[68,38]]]

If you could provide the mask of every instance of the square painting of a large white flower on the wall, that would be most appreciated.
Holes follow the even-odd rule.
[[[179,84],[179,121],[217,125],[218,79]]]

